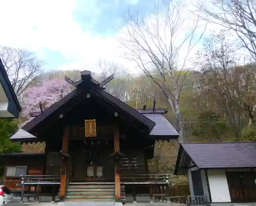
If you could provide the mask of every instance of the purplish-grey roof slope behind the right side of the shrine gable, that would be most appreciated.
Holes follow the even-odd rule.
[[[143,115],[156,123],[150,135],[179,137],[179,133],[161,113],[145,113]]]

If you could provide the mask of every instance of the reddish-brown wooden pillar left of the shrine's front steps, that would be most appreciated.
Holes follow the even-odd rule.
[[[63,139],[62,139],[62,154],[68,153],[68,146],[69,146],[69,127],[66,126],[64,128]],[[61,176],[60,176],[60,192],[59,192],[59,200],[65,200],[65,193],[66,193],[66,177],[67,177],[67,157],[61,155]]]

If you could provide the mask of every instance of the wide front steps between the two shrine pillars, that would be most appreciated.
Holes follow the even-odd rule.
[[[66,202],[116,201],[115,184],[70,183],[66,192]],[[126,202],[124,186],[121,186],[121,201]]]

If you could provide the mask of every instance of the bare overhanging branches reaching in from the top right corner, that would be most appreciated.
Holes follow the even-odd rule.
[[[200,3],[198,9],[204,20],[217,23],[237,34],[243,47],[256,61],[256,0],[210,0]]]

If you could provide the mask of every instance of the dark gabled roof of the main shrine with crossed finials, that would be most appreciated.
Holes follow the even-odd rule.
[[[84,93],[84,88],[90,89],[90,92],[95,96],[99,97],[100,100],[106,101],[119,111],[123,111],[127,116],[131,117],[136,122],[144,125],[147,128],[148,134],[152,138],[161,137],[162,140],[169,140],[169,139],[177,139],[179,134],[175,130],[175,128],[165,119],[162,114],[165,114],[167,110],[165,109],[156,109],[155,111],[151,109],[146,110],[136,110],[127,105],[125,102],[117,99],[113,95],[109,94],[108,92],[104,91],[102,86],[108,83],[112,76],[104,80],[102,83],[99,83],[92,79],[90,71],[82,71],[81,72],[81,80],[78,82],[74,82],[69,78],[66,80],[76,87],[74,91],[69,93],[67,96],[63,97],[51,107],[49,107],[44,112],[41,112],[38,116],[28,122],[25,126],[22,127],[22,132],[28,132],[32,134],[33,137],[37,136],[37,134],[33,131],[35,127],[40,127],[42,122],[47,122],[47,118],[51,115],[55,118],[58,118],[59,114],[63,114],[62,108],[64,105],[68,105],[67,107],[71,109],[74,106],[74,102],[79,101],[79,99],[83,98],[86,93]],[[35,135],[35,136],[34,136]],[[11,140],[17,140],[18,134],[16,133],[11,137]],[[29,137],[29,136],[28,136]],[[31,138],[31,137],[29,137]],[[24,136],[22,139],[27,139]]]

